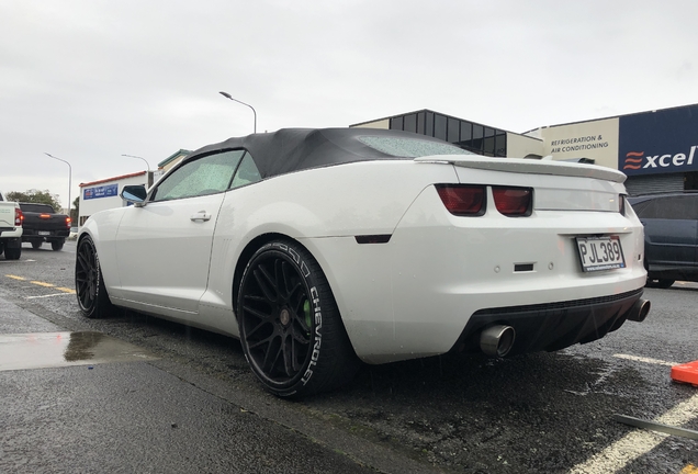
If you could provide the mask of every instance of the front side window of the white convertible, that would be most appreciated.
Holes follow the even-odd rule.
[[[153,201],[169,201],[226,191],[245,150],[229,150],[189,161],[158,184]]]

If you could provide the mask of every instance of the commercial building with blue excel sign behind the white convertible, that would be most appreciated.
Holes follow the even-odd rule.
[[[698,189],[698,104],[506,132],[421,110],[351,126],[404,129],[492,156],[593,160],[628,176],[629,194]]]

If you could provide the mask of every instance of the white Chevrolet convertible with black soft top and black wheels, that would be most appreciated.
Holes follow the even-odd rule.
[[[359,361],[559,350],[650,311],[624,179],[403,132],[230,138],[87,221],[78,302],[238,337],[279,396]]]

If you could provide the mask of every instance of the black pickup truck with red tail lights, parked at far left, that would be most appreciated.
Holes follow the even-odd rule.
[[[70,217],[56,214],[48,204],[20,203],[24,214],[24,232],[22,241],[32,244],[35,249],[44,241],[50,242],[50,248],[60,250],[70,235]]]

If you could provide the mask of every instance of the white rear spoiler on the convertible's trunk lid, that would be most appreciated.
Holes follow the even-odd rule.
[[[442,162],[463,168],[474,168],[493,171],[517,172],[528,174],[554,174],[581,178],[595,178],[622,183],[626,174],[596,165],[575,162],[537,160],[524,158],[487,158],[470,155],[438,155],[415,158],[418,162]]]

